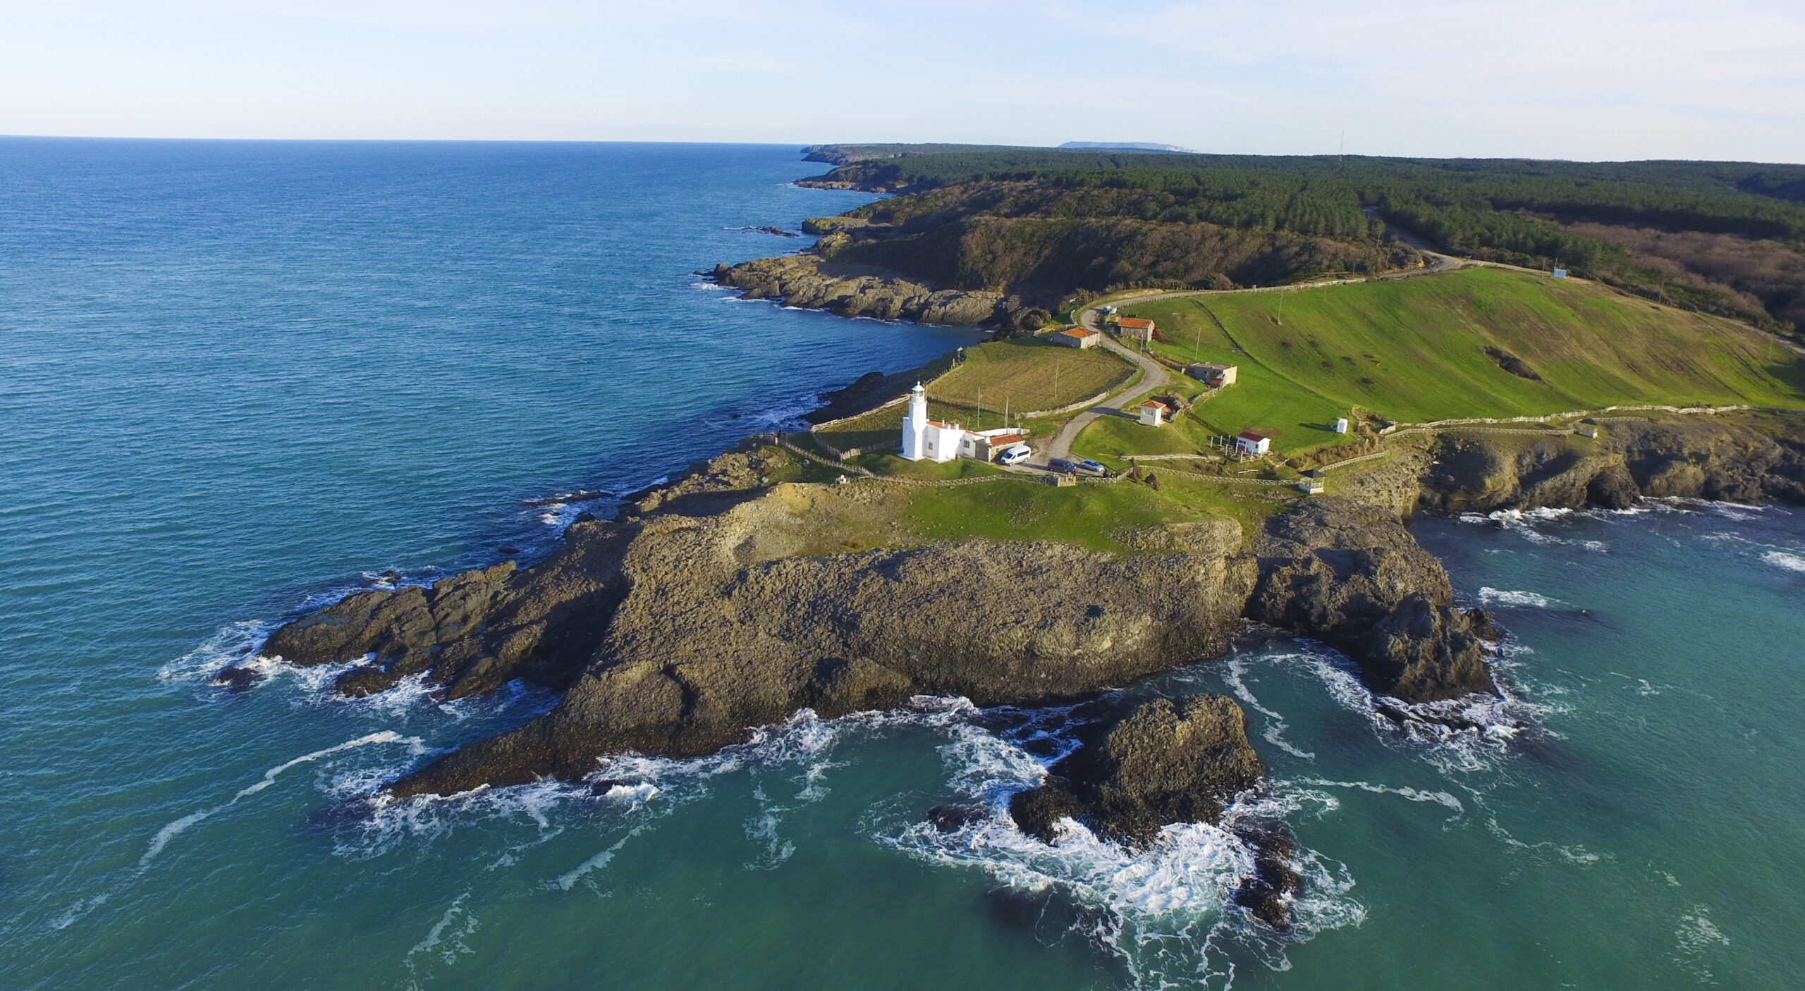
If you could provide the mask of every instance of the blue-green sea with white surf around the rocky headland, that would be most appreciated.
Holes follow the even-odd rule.
[[[998,810],[1081,709],[800,713],[697,760],[381,801],[531,686],[211,675],[372,587],[977,339],[740,301],[792,146],[0,139],[0,987],[1540,989],[1805,980],[1805,513],[1417,518],[1509,630],[1482,729],[1249,637],[1125,693],[1240,700],[1298,838],[1045,845]],[[587,502],[542,504],[588,493]],[[538,505],[529,505],[538,504]],[[926,812],[980,814],[939,829]]]

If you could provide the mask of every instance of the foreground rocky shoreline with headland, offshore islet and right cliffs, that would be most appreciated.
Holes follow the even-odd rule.
[[[1247,623],[1336,646],[1384,711],[1413,718],[1415,704],[1496,697],[1487,644],[1500,632],[1457,607],[1446,570],[1404,525],[1412,511],[1805,502],[1805,419],[1733,413],[1612,422],[1596,440],[1449,433],[1256,533],[1171,523],[1134,552],[857,547],[856,533],[884,525],[886,486],[767,484],[787,457],[749,440],[628,496],[614,520],[570,525],[532,567],[354,594],[278,628],[262,653],[352,662],[336,681],[347,695],[410,675],[451,699],[516,679],[563,691],[532,722],[390,783],[397,798],[583,780],[619,751],[704,755],[803,708],[830,718],[915,695],[1096,699],[1220,657]],[[245,688],[256,670],[233,666],[218,682]],[[1105,722],[1045,787],[1018,794],[1016,823],[1047,838],[1072,816],[1146,843],[1170,821],[1218,821],[1235,794],[1260,787],[1231,700],[1150,706]],[[1296,888],[1289,832],[1236,829],[1258,850],[1236,901],[1282,930]]]

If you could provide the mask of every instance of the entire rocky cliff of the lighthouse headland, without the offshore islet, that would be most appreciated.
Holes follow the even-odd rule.
[[[910,545],[884,536],[897,489],[767,487],[769,451],[724,455],[616,520],[579,522],[531,569],[350,596],[280,628],[264,653],[352,662],[347,693],[408,675],[453,697],[511,679],[565,690],[545,717],[415,771],[397,794],[579,778],[623,749],[708,753],[801,708],[1081,699],[1220,655],[1244,616],[1341,644],[1408,702],[1493,690],[1448,576],[1381,509],[1321,500],[1251,543],[1215,520],[1114,554]]]

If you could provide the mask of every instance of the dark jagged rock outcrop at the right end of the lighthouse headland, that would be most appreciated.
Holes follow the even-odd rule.
[[[1254,554],[1247,616],[1341,648],[1374,691],[1406,702],[1496,693],[1448,572],[1384,509],[1314,500],[1269,518]]]

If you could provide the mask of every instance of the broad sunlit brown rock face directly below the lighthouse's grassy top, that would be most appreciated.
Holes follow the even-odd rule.
[[[1253,583],[1227,551],[967,542],[744,561],[778,509],[646,520],[623,561],[630,592],[563,702],[395,791],[581,776],[623,749],[709,753],[801,708],[1078,699],[1222,653]]]

